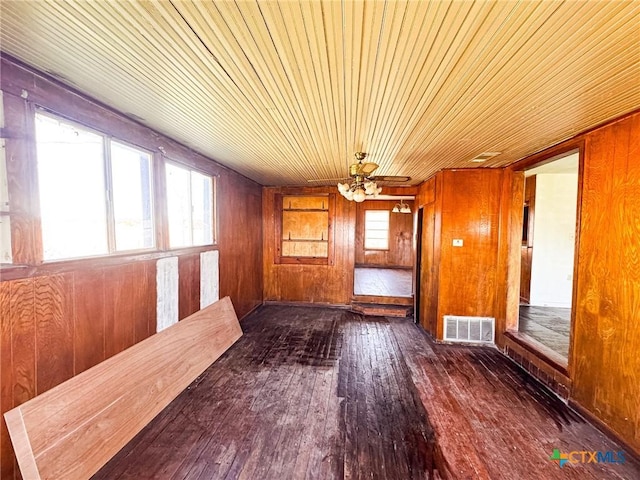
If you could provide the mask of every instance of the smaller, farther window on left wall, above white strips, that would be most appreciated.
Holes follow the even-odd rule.
[[[214,244],[214,177],[169,162],[166,174],[169,246]]]

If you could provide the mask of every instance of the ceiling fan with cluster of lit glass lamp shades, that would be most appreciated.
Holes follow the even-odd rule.
[[[320,181],[340,181],[338,191],[347,199],[355,202],[364,202],[367,197],[376,197],[382,188],[376,182],[408,182],[411,177],[398,175],[378,175],[372,173],[378,168],[378,164],[373,162],[363,162],[367,157],[365,152],[356,152],[356,163],[349,165],[348,178],[333,178],[323,180],[308,180],[309,182]]]

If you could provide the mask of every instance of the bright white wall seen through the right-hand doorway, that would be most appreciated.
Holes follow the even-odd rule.
[[[530,304],[571,307],[578,174],[536,175]]]

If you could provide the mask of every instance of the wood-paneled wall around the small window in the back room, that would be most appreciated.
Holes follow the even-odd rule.
[[[394,200],[365,200],[356,206],[356,265],[382,267],[413,267],[413,200],[405,200],[412,214],[389,214],[389,250],[365,250],[365,210],[388,210],[398,203]]]

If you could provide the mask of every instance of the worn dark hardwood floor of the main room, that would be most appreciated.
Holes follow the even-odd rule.
[[[632,479],[622,448],[497,350],[411,319],[265,306],[97,479]]]

